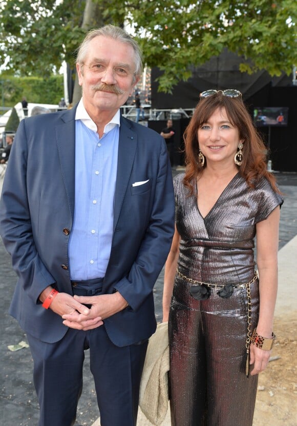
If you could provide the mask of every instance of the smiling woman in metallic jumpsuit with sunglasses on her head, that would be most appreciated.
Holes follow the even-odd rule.
[[[283,199],[241,93],[200,96],[184,134],[186,170],[174,179],[164,273],[172,424],[251,426],[275,337]]]

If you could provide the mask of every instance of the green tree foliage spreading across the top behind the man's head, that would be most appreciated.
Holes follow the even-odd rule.
[[[240,70],[291,72],[296,63],[295,0],[7,0],[1,12],[0,60],[19,75],[50,76],[89,28],[130,24],[147,66],[163,70],[159,89],[170,92],[189,78],[190,65],[204,64],[227,48],[244,58]],[[288,21],[290,18],[290,22]],[[33,36],[34,35],[34,36]]]

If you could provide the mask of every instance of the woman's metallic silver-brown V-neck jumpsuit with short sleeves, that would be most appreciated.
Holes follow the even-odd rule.
[[[197,193],[188,196],[184,174],[174,179],[176,225],[181,236],[178,270],[187,278],[234,286],[254,276],[256,224],[281,205],[262,179],[248,189],[237,174],[203,218]],[[210,288],[206,300],[189,292],[177,274],[169,314],[171,413],[174,426],[251,426],[258,375],[245,375],[247,294],[228,298]],[[251,330],[257,326],[259,281],[251,285]]]

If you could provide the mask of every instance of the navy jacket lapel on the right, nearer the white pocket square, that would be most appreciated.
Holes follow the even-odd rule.
[[[134,163],[136,148],[137,134],[131,130],[129,122],[121,117],[117,180],[114,200],[114,230],[119,219],[123,199],[128,187],[128,182]]]

